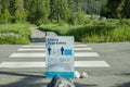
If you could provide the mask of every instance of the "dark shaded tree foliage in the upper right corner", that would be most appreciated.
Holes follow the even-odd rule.
[[[108,0],[102,13],[108,18],[130,18],[130,0]]]

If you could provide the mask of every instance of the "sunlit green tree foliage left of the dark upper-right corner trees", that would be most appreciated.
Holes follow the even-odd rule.
[[[0,24],[49,22],[83,23],[83,16],[100,14],[106,0],[0,0]],[[75,20],[76,17],[76,23]]]

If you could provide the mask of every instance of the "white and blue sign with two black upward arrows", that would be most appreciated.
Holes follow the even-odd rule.
[[[46,76],[74,78],[74,37],[46,37]]]

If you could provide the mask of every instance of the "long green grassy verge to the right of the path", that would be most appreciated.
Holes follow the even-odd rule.
[[[63,36],[75,36],[81,42],[130,41],[130,25],[118,20],[91,21],[87,25],[47,24],[42,30],[55,32]]]

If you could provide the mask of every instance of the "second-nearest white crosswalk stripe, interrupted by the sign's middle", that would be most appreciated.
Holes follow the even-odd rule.
[[[75,52],[75,57],[99,57],[96,52]],[[46,53],[13,53],[10,58],[46,58]]]

